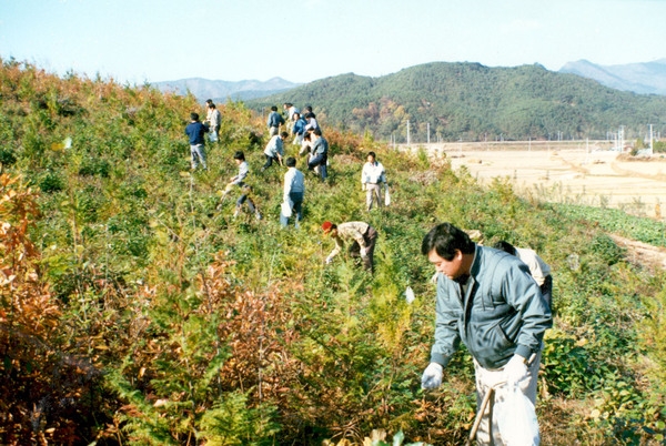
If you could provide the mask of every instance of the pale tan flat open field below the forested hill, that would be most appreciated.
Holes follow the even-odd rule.
[[[446,156],[454,171],[481,182],[509,178],[516,193],[539,200],[617,207],[663,221],[666,158],[629,159],[609,141],[431,143],[432,156]],[[407,148],[401,148],[406,150]],[[666,212],[666,210],[664,211]]]

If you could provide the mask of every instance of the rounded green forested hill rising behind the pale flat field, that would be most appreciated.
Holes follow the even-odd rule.
[[[666,97],[613,90],[542,65],[488,68],[434,62],[381,78],[350,74],[322,79],[289,92],[250,101],[311,104],[327,124],[404,141],[625,138],[666,133]]]

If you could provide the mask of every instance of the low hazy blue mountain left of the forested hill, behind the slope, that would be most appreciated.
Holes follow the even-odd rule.
[[[206,99],[212,99],[215,102],[226,102],[228,99],[245,101],[263,98],[291,90],[301,84],[285,81],[282,78],[269,79],[265,82],[256,80],[230,82],[190,78],[176,81],[154,82],[152,85],[157,87],[160,91],[170,91],[176,94],[186,94],[190,91],[200,102],[204,102]]]

